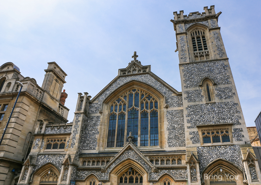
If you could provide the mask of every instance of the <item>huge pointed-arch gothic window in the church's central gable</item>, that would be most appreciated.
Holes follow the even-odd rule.
[[[123,147],[130,132],[137,146],[159,145],[158,100],[151,93],[128,89],[109,104],[109,112],[107,148]]]

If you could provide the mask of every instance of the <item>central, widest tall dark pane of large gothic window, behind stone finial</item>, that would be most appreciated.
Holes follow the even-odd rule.
[[[128,111],[128,122],[127,122],[127,135],[132,132],[133,142],[137,145],[138,143],[138,121],[139,111],[135,108]],[[128,142],[128,139],[127,139]]]

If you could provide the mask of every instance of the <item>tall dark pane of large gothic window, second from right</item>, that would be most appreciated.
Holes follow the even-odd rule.
[[[148,113],[141,113],[140,117],[140,146],[148,146]]]

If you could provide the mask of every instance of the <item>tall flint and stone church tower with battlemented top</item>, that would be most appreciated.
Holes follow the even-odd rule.
[[[244,171],[244,179],[239,179],[237,184],[247,184],[247,181],[259,184],[258,164],[255,159],[252,164],[246,158],[255,154],[251,145],[245,144],[249,136],[218,26],[222,12],[216,13],[211,6],[204,7],[203,13],[184,15],[183,10],[173,13],[175,20],[171,22],[176,31],[175,52],[179,52],[189,184],[200,184],[200,180],[209,184],[210,179],[195,176],[210,175],[208,169],[212,167],[223,168],[217,173],[224,173],[227,167],[221,163],[209,166],[215,159],[233,162]],[[194,167],[190,162],[192,156],[194,162],[196,160]]]

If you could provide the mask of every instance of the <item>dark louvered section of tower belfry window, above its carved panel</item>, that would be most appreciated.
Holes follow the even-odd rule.
[[[196,29],[191,32],[191,40],[193,45],[193,52],[208,50],[204,30]]]

